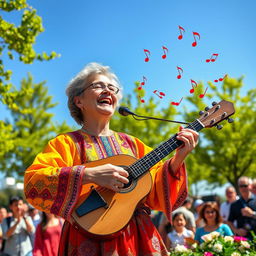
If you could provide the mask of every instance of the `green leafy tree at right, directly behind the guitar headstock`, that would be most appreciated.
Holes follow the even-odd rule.
[[[243,79],[227,77],[223,85],[216,86],[209,83],[212,93],[205,97],[215,100],[222,99],[231,101],[235,105],[236,113],[232,124],[224,124],[220,131],[212,128],[205,129],[201,134],[198,147],[190,159],[190,178],[194,181],[206,179],[209,183],[221,185],[230,182],[237,188],[237,180],[243,175],[255,177],[256,167],[256,89],[249,90],[245,96],[241,96]],[[198,97],[203,91],[200,84],[194,96],[187,100],[197,109],[185,111],[185,120],[191,120],[196,116],[198,109],[204,109],[205,105]],[[204,175],[194,175],[203,173]],[[194,176],[193,176],[194,175]]]

